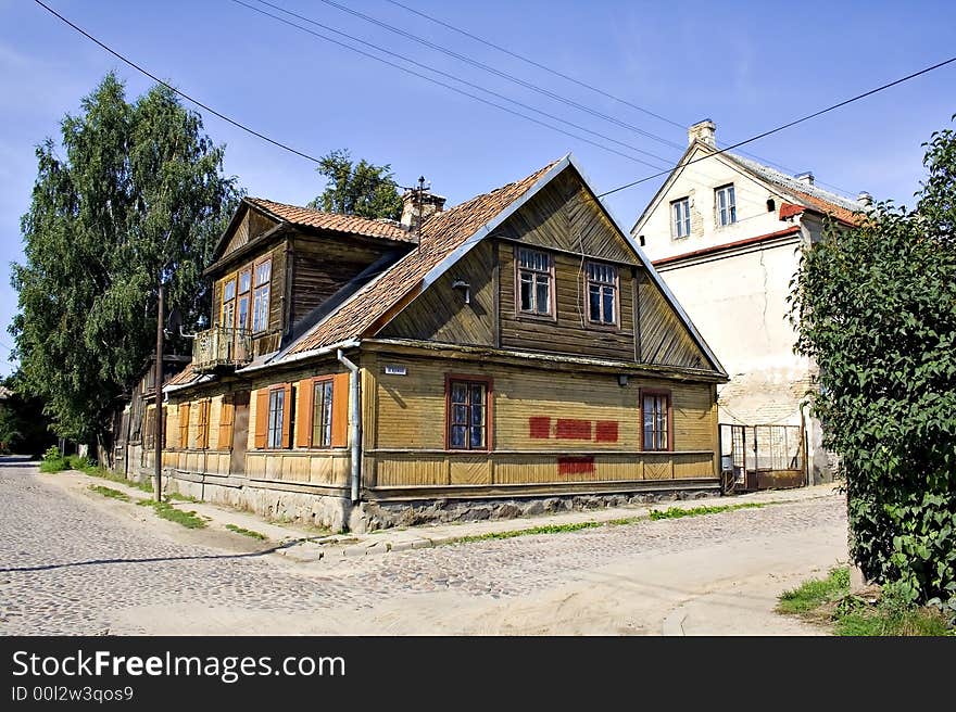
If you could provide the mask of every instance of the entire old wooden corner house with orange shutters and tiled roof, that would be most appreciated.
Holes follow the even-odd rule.
[[[242,201],[165,387],[169,486],[353,531],[718,491],[724,369],[573,156],[405,201]]]

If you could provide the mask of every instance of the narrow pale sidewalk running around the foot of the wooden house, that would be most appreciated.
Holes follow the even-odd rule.
[[[146,499],[149,495],[134,486],[105,478],[97,478],[78,471],[68,471],[84,485],[93,484],[112,487],[127,494],[130,498]],[[56,476],[56,475],[52,475]],[[367,534],[328,534],[317,529],[295,523],[271,522],[256,514],[213,505],[209,503],[171,501],[174,507],[194,511],[206,520],[213,530],[226,530],[227,525],[257,532],[266,537],[263,548],[291,561],[315,562],[361,557],[390,551],[419,549],[449,544],[463,537],[506,534],[543,526],[566,526],[587,523],[604,523],[614,520],[647,517],[652,509],[664,510],[670,507],[693,509],[696,507],[719,507],[747,503],[789,503],[818,497],[838,496],[836,484],[801,487],[798,490],[765,491],[726,497],[706,497],[676,501],[661,501],[653,505],[634,505],[584,511],[565,511],[518,519],[499,519],[475,522],[454,522],[443,524],[422,524],[403,529],[389,529]],[[236,534],[236,536],[242,536]]]

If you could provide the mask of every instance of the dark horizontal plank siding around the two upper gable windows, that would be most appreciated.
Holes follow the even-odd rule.
[[[555,320],[520,315],[515,294],[514,244],[502,242],[499,258],[502,348],[634,360],[633,278],[630,267],[618,266],[619,328],[605,329],[588,322],[588,288],[580,257],[552,253]]]

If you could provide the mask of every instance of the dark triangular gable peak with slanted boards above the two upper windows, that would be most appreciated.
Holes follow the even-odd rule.
[[[491,233],[615,263],[639,259],[584,185],[565,170]]]

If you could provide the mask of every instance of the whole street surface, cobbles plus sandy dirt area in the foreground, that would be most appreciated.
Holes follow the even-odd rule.
[[[5,635],[661,634],[676,611],[707,596],[728,594],[737,607],[750,582],[755,606],[766,608],[764,598],[845,558],[845,512],[833,495],[293,563],[177,541],[156,525],[168,523],[118,516],[96,495],[53,486],[55,476],[0,465]],[[795,632],[780,620],[768,633]]]

